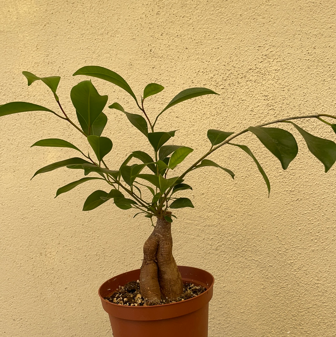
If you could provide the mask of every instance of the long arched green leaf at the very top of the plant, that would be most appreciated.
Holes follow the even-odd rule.
[[[85,66],[75,71],[73,73],[73,76],[75,75],[93,76],[111,82],[127,91],[138,103],[135,94],[133,93],[132,89],[127,84],[127,82],[120,75],[118,75],[116,72],[112,70],[100,66]]]

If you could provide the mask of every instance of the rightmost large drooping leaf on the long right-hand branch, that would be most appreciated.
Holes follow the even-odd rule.
[[[323,163],[325,172],[327,173],[336,161],[336,144],[329,139],[316,137],[311,133],[301,129],[295,123],[291,123],[301,133],[302,137],[307,143],[309,151]]]

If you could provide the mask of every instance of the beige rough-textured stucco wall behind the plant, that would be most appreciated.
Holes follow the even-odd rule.
[[[208,129],[239,131],[284,116],[335,113],[335,5],[2,0],[0,104],[30,101],[57,109],[48,88],[28,88],[21,71],[60,75],[60,99],[74,116],[69,93],[83,78],[71,74],[84,65],[116,71],[138,97],[148,83],[163,85],[148,99],[152,118],[182,89],[208,87],[221,96],[178,104],[159,120],[161,130],[179,129],[175,144],[195,149],[187,165],[208,150]],[[109,104],[135,112],[127,93],[92,82],[109,95]],[[106,113],[104,135],[114,143],[109,162],[117,167],[146,142],[121,113]],[[336,139],[315,121],[299,125]],[[325,174],[295,134],[299,155],[287,171],[252,135],[240,139],[268,174],[270,198],[254,163],[235,148],[210,158],[233,170],[234,181],[215,168],[195,171],[186,181],[194,187],[185,196],[195,209],[176,212],[174,251],[178,264],[216,278],[211,337],[336,334],[336,168]],[[112,204],[82,212],[86,196],[107,189],[104,184],[88,182],[54,199],[79,172],[60,169],[30,181],[38,168],[77,155],[30,148],[51,137],[88,149],[79,132],[51,114],[1,118],[0,335],[111,336],[98,287],[139,268],[150,223]]]

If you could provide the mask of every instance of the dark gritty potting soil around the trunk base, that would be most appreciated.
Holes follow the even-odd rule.
[[[194,283],[183,283],[183,294],[173,300],[165,299],[161,300],[159,304],[175,303],[193,298],[206,291],[206,288],[196,285]],[[116,290],[111,296],[104,297],[105,300],[115,304],[129,305],[129,306],[144,306],[145,300],[140,292],[140,283],[138,281],[131,281],[124,286],[119,285],[119,289]]]

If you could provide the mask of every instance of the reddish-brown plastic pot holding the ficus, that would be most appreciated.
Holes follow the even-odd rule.
[[[178,266],[185,282],[207,290],[189,300],[145,307],[118,305],[104,297],[127,282],[139,279],[140,269],[115,276],[99,288],[104,310],[109,314],[114,337],[207,337],[208,309],[213,294],[214,277],[198,268]]]

